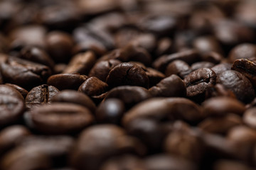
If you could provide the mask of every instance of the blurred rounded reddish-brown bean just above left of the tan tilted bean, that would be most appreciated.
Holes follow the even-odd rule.
[[[55,62],[68,62],[72,53],[73,39],[67,33],[53,31],[46,35],[46,46]]]

